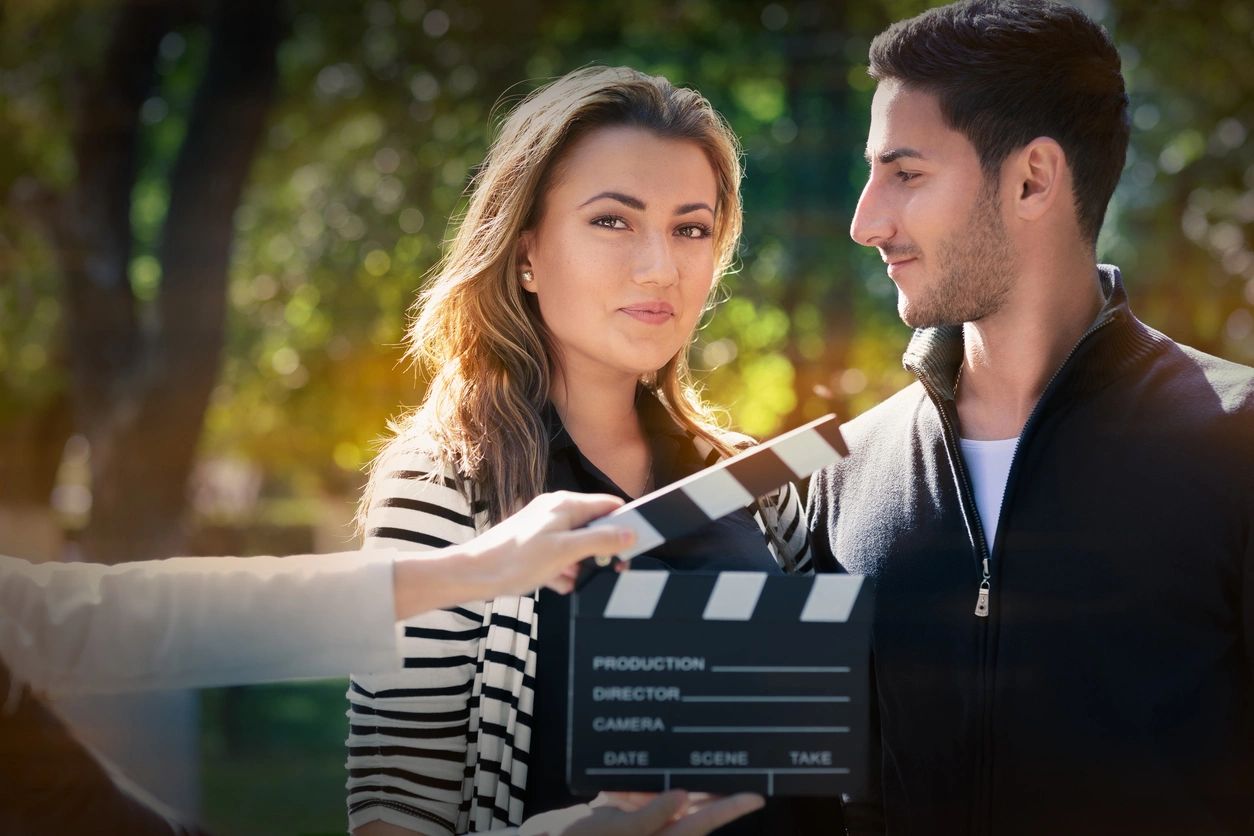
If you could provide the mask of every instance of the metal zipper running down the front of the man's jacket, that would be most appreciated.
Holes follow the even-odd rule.
[[[1009,470],[1007,471],[1006,486],[1002,489],[1002,513],[1003,514],[1006,511],[1006,498],[1009,495],[1009,488],[1011,488],[1011,479],[1009,479],[1009,476],[1014,475],[1014,465],[1018,461],[1020,446],[1022,445],[1023,439],[1028,435],[1028,429],[1033,427],[1033,424],[1035,424],[1037,416],[1041,412],[1041,405],[1045,404],[1045,401],[1047,400],[1047,395],[1050,394],[1050,390],[1053,387],[1055,381],[1058,380],[1058,375],[1061,375],[1062,370],[1067,367],[1067,365],[1071,362],[1071,358],[1076,356],[1076,352],[1080,351],[1080,347],[1085,342],[1088,341],[1088,337],[1091,337],[1093,333],[1096,333],[1097,331],[1100,331],[1101,328],[1106,327],[1107,325],[1110,325],[1114,321],[1115,321],[1115,317],[1114,316],[1109,316],[1109,317],[1104,318],[1102,321],[1095,322],[1093,325],[1091,325],[1088,327],[1088,330],[1085,331],[1083,335],[1081,335],[1081,337],[1076,341],[1076,345],[1073,345],[1071,347],[1071,351],[1067,353],[1066,358],[1058,365],[1057,368],[1055,368],[1053,375],[1050,377],[1048,382],[1046,382],[1045,387],[1041,390],[1041,397],[1037,400],[1036,406],[1032,407],[1032,412],[1028,415],[1027,421],[1023,422],[1023,429],[1020,430],[1018,439],[1014,441],[1014,451],[1011,454],[1011,466],[1009,466]],[[947,441],[947,444],[951,447],[949,455],[953,457],[954,470],[957,471],[958,479],[959,479],[959,481],[962,484],[963,496],[964,496],[964,500],[967,503],[967,508],[971,509],[971,514],[968,515],[968,520],[967,521],[968,521],[968,525],[972,525],[972,530],[976,533],[976,545],[979,549],[978,554],[979,554],[981,575],[982,575],[981,580],[979,580],[979,585],[977,587],[977,592],[976,592],[976,613],[974,614],[978,618],[987,619],[988,618],[988,613],[989,613],[991,597],[992,597],[992,573],[989,572],[989,568],[991,568],[989,567],[989,559],[993,556],[993,553],[992,553],[992,549],[988,548],[987,540],[984,539],[983,521],[979,519],[979,514],[976,510],[974,493],[972,491],[971,483],[968,481],[966,462],[962,459],[962,447],[958,444],[958,435],[957,435],[957,432],[954,432],[953,425],[951,424],[949,417],[946,414],[944,405],[940,401],[939,394],[932,387],[930,384],[927,382],[927,380],[923,377],[922,374],[919,374],[915,370],[912,370],[912,371],[914,371],[914,375],[915,375],[915,377],[918,377],[919,382],[923,384],[923,389],[932,397],[932,402],[935,405],[937,412],[940,415],[940,424],[944,426],[944,431],[946,431],[946,441]],[[954,411],[957,411],[957,401],[954,401]],[[1001,530],[1001,526],[998,526],[998,530]],[[999,536],[994,539],[994,543],[993,543],[994,548],[996,548],[996,545],[997,545],[997,543],[999,540],[1001,540]],[[981,649],[981,659],[979,659],[979,681],[981,681],[981,688],[982,688],[983,693],[981,694],[981,701],[979,701],[981,711],[979,711],[979,746],[978,746],[978,750],[977,750],[977,782],[976,782],[976,787],[977,787],[977,803],[976,803],[976,807],[974,807],[976,810],[978,810],[981,807],[986,807],[988,803],[991,803],[991,798],[992,798],[991,792],[989,792],[989,787],[992,785],[992,753],[984,751],[984,750],[988,748],[988,739],[989,739],[989,736],[988,736],[987,729],[984,728],[984,726],[987,724],[988,704],[992,702],[992,694],[989,693],[991,692],[991,684],[989,684],[989,677],[988,677],[988,669],[987,669],[988,668],[988,629],[987,628],[988,628],[988,623],[984,622],[984,630],[983,630],[983,634],[981,637],[982,638],[982,649]],[[986,815],[983,816],[983,821],[986,822],[986,825],[988,825],[988,823],[991,823],[989,820],[991,820],[991,812],[992,811],[989,810],[989,811],[984,811],[984,812],[986,812]],[[978,825],[978,823],[979,823],[978,818],[974,820],[974,821],[972,821],[972,831],[973,832],[986,832],[987,827],[977,827],[976,825]]]

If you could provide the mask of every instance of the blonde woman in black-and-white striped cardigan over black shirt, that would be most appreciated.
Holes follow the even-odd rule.
[[[464,540],[545,489],[640,496],[735,452],[686,346],[736,248],[740,175],[724,120],[665,79],[589,68],[525,99],[419,300],[411,353],[435,376],[371,474],[367,548]],[[635,565],[806,570],[800,514],[786,486]],[[542,592],[415,619],[410,672],[354,677],[355,832],[489,830],[581,801],[562,761],[567,605]]]

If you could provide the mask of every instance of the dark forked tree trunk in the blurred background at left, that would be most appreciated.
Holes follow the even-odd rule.
[[[177,9],[174,10],[177,11]],[[103,563],[181,550],[187,479],[217,380],[233,214],[275,91],[278,4],[223,0],[171,175],[154,317],[129,283],[138,113],[171,6],[117,18],[104,66],[80,86],[79,178],[59,224],[75,417],[92,449],[85,554]]]

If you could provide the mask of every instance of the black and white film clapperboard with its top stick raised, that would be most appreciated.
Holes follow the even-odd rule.
[[[628,503],[630,559],[848,455],[825,416]],[[606,562],[608,564],[608,562]],[[567,782],[835,796],[865,778],[872,594],[861,575],[581,572]]]

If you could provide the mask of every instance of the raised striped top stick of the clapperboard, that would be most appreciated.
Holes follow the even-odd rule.
[[[597,558],[596,564],[607,567],[616,560],[630,560],[846,455],[840,422],[835,415],[824,415],[594,520],[592,526],[616,525],[636,533],[630,549],[613,558]],[[591,560],[583,564],[581,583],[587,580],[589,564]]]

